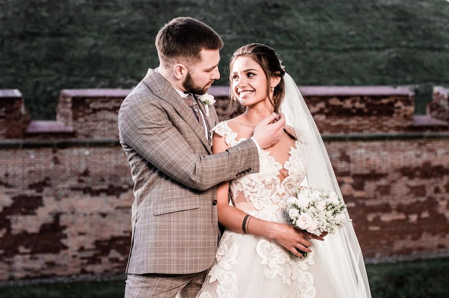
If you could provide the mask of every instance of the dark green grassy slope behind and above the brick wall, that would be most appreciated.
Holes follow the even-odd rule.
[[[54,119],[62,88],[131,88],[156,67],[154,38],[175,16],[223,38],[216,85],[248,42],[277,50],[298,85],[449,85],[446,0],[0,0],[0,88]],[[424,113],[427,96],[417,100]]]

